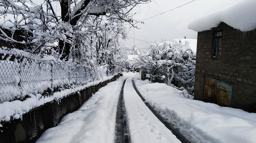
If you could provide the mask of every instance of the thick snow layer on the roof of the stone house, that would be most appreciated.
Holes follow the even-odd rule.
[[[242,0],[192,21],[188,28],[197,32],[211,30],[225,22],[242,32],[256,29],[256,0]]]

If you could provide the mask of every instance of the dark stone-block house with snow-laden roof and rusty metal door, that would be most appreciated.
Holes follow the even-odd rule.
[[[209,13],[188,28],[198,32],[194,99],[256,112],[256,2]]]

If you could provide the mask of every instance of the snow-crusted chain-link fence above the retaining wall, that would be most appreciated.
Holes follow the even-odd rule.
[[[34,55],[17,49],[0,48],[0,103],[23,100],[27,95],[47,92],[63,85],[86,84],[100,76],[113,75],[121,69],[102,73],[52,56]]]

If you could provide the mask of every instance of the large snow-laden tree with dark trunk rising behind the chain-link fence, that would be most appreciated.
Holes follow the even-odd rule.
[[[88,34],[95,30],[108,30],[118,22],[134,26],[137,22],[132,19],[131,9],[148,2],[150,0],[2,0],[2,20],[13,23],[13,30],[26,30],[33,36],[27,41],[16,41],[2,30],[10,27],[0,26],[1,39],[32,43],[36,47],[27,51],[36,53],[51,49],[57,51],[61,60],[68,60],[70,51],[78,53],[77,44],[82,43],[81,38],[89,38]],[[61,11],[57,11],[56,6]]]

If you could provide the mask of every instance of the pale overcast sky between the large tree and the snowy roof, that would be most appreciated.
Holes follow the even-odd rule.
[[[152,0],[150,4],[141,4],[139,7],[136,7],[132,12],[140,13],[136,14],[133,18],[135,20],[142,20],[174,9],[190,1],[192,0]],[[134,32],[133,28],[131,28],[128,36],[134,36],[136,39],[150,42],[161,42],[162,39],[173,40],[184,38],[184,36],[197,39],[197,32],[187,28],[191,21],[239,1],[241,0],[196,0],[162,15],[144,20],[145,24],[138,24],[140,29],[135,28]],[[127,47],[133,47],[133,44],[139,49],[148,47],[147,43],[131,38],[121,41]]]

